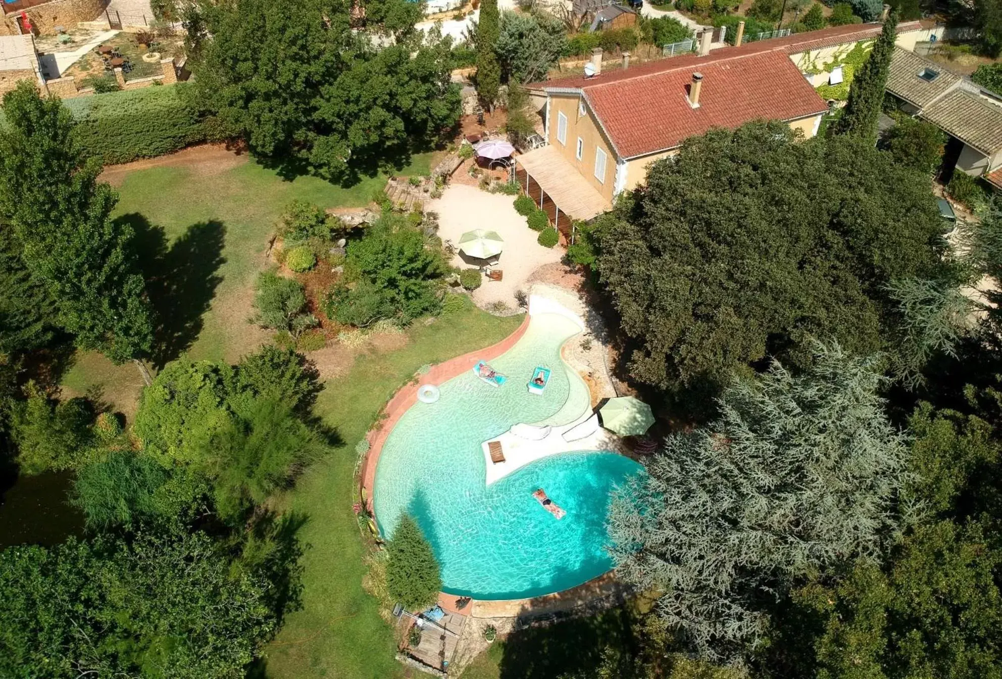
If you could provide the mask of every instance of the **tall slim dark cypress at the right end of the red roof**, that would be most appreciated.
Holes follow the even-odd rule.
[[[833,126],[836,134],[858,134],[877,138],[877,118],[884,103],[884,87],[894,56],[898,15],[892,13],[884,22],[884,30],[874,44],[870,57],[853,76],[849,86],[849,101],[842,117]]]

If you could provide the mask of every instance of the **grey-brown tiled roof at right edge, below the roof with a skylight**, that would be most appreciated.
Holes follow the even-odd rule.
[[[919,116],[986,155],[1002,149],[1002,105],[960,87],[937,99]]]

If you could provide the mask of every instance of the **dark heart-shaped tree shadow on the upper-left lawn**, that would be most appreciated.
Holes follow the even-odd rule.
[[[163,229],[144,216],[130,213],[118,219],[135,231],[136,256],[156,313],[150,358],[160,369],[190,347],[201,332],[202,315],[222,281],[216,272],[225,262],[226,229],[215,220],[199,222],[168,247]]]

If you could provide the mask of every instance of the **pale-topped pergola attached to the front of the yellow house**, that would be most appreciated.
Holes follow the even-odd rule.
[[[571,242],[575,221],[587,222],[612,209],[555,146],[516,155],[515,181]]]

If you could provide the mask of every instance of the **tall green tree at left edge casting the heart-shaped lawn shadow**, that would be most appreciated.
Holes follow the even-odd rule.
[[[132,230],[110,218],[117,196],[97,182],[100,164],[84,158],[57,98],[21,82],[3,103],[0,218],[21,259],[80,348],[137,361],[150,350],[153,324]]]

